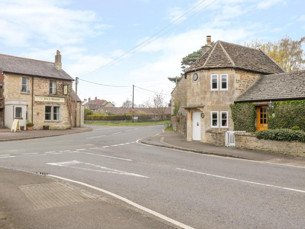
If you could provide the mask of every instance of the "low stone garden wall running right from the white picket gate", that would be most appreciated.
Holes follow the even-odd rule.
[[[305,157],[305,143],[303,142],[257,139],[250,133],[235,133],[235,147]]]

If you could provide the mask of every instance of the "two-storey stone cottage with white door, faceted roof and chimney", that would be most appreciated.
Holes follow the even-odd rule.
[[[263,76],[284,72],[261,49],[215,42],[185,72],[187,140],[213,143],[214,133],[233,130],[229,105]]]

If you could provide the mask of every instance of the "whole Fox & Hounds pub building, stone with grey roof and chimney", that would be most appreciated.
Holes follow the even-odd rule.
[[[0,71],[0,127],[11,128],[14,119],[33,129],[84,126],[84,106],[76,96],[75,108],[74,79],[63,71],[58,50],[54,63],[0,54]]]

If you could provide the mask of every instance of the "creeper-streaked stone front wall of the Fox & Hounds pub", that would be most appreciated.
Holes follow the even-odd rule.
[[[28,78],[28,89],[30,93],[21,93],[22,77]],[[28,105],[28,122],[33,122],[33,129],[42,129],[48,125],[50,129],[71,128],[72,106],[71,90],[72,82],[66,80],[34,77],[34,96],[64,97],[64,103],[34,101],[33,97],[33,120],[32,120],[32,80],[31,76],[4,74],[4,98],[5,100],[25,100]],[[56,81],[56,94],[49,94],[50,80]],[[68,95],[63,95],[63,85],[68,85]],[[60,120],[45,121],[45,106],[59,106]],[[24,117],[25,118],[25,117]]]

